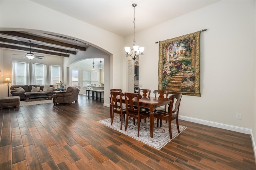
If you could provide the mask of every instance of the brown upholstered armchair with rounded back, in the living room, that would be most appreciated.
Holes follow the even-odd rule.
[[[66,92],[55,92],[55,94],[52,95],[54,105],[58,103],[71,104],[74,101],[77,102],[79,91],[80,88],[69,86]]]

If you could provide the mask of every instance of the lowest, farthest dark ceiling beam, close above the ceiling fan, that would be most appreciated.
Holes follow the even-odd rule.
[[[8,49],[16,49],[16,50],[22,50],[22,51],[30,51],[29,48],[26,47],[19,47],[19,46],[15,46],[15,45],[8,45],[8,44],[2,44],[0,43],[0,47],[1,48],[8,48]],[[57,55],[60,57],[69,57],[68,54],[62,54],[62,53],[56,53],[56,52],[51,52],[51,51],[43,51],[43,50],[38,50],[38,49],[31,49],[31,52],[35,52],[35,53],[43,53],[43,54],[49,54],[49,55]]]

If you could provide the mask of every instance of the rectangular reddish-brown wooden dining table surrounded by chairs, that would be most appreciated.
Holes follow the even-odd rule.
[[[110,98],[111,100],[111,98]],[[122,97],[122,102],[125,103],[124,96]],[[136,102],[136,101],[134,101]],[[142,97],[140,99],[140,107],[146,107],[149,109],[149,121],[150,121],[150,137],[153,137],[154,132],[154,111],[156,107],[164,106],[170,104],[171,100],[169,98],[156,98],[156,97]],[[112,115],[112,105],[110,101],[110,116]]]

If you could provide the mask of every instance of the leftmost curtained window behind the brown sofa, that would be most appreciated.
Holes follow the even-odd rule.
[[[30,84],[29,63],[16,61],[12,62],[12,84]]]

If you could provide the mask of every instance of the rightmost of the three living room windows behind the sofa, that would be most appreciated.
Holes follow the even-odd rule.
[[[62,81],[62,68],[57,65],[50,65],[49,67],[49,82],[50,84],[56,84],[57,82]]]

